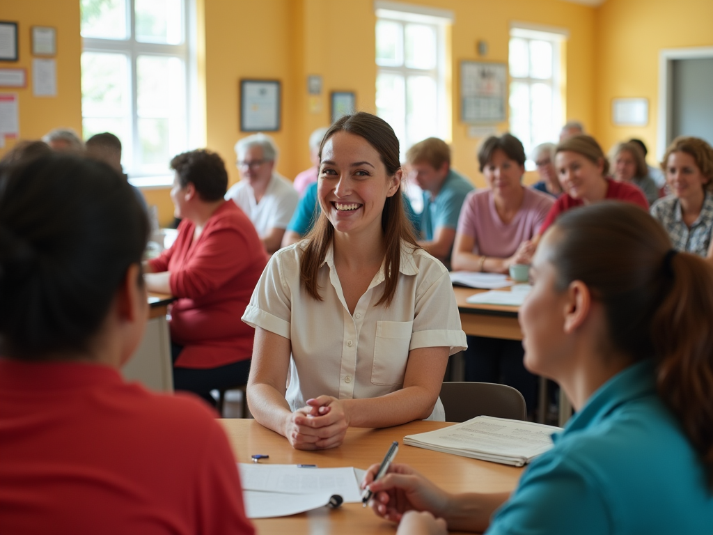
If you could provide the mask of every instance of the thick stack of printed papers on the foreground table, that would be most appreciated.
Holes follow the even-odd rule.
[[[559,427],[505,418],[478,416],[436,431],[411,434],[404,444],[471,459],[521,467],[552,447]]]

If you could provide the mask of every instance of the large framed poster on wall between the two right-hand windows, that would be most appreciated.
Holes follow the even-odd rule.
[[[461,120],[463,123],[506,121],[508,98],[505,63],[461,61]]]

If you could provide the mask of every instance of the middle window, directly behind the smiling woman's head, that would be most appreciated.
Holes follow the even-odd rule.
[[[399,138],[401,158],[425,138],[450,138],[446,98],[448,11],[376,2],[376,114]]]

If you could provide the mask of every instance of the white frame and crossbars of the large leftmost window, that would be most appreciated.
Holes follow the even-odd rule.
[[[138,132],[138,77],[137,60],[139,56],[160,56],[165,58],[178,58],[183,63],[183,82],[185,86],[185,139],[183,150],[190,146],[200,146],[200,134],[196,135],[194,124],[200,120],[200,110],[195,105],[197,96],[197,61],[195,55],[195,0],[181,1],[181,26],[183,40],[180,44],[147,43],[137,41],[135,36],[135,0],[125,0],[126,21],[128,32],[125,39],[101,39],[96,37],[82,37],[82,54],[93,52],[99,54],[123,54],[128,61],[128,93],[130,120],[130,147],[123,146],[123,154],[130,150],[128,168],[129,182],[142,188],[165,188],[173,183],[173,173],[166,170],[162,173],[149,173],[137,168],[135,155],[140,151],[140,137]],[[82,113],[82,121],[84,121]],[[205,137],[202,136],[202,137]],[[197,143],[198,142],[198,143]],[[124,161],[124,158],[122,158]]]

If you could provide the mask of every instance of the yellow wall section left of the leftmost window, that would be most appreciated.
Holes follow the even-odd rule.
[[[0,20],[17,22],[19,61],[0,61],[0,68],[24,68],[27,87],[1,88],[1,93],[19,96],[20,137],[41,138],[52,128],[65,126],[82,131],[81,81],[79,58],[78,0],[21,0],[0,1]],[[57,29],[57,96],[32,95],[31,26],[54,26]],[[8,140],[0,157],[14,145]]]

